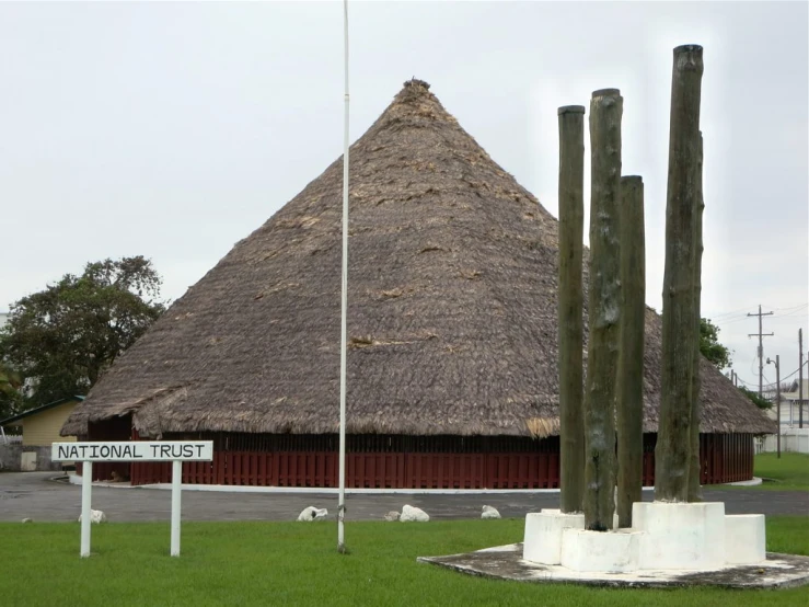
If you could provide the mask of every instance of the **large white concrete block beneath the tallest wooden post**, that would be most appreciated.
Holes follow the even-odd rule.
[[[640,539],[640,569],[713,570],[725,564],[723,502],[636,502],[633,528]]]

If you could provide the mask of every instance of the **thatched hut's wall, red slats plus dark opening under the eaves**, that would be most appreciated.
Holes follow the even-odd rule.
[[[137,439],[137,434],[131,438]],[[645,486],[655,484],[655,439],[654,434],[644,436]],[[753,436],[703,434],[700,460],[702,484],[751,479]],[[132,484],[171,481],[170,462],[96,462],[93,480],[107,480],[113,470],[130,477]],[[77,472],[81,473],[81,463]],[[218,436],[213,461],[183,465],[183,482],[201,484],[334,488],[337,474],[337,449],[330,437]],[[346,486],[555,489],[559,486],[558,438],[354,437],[346,454]]]

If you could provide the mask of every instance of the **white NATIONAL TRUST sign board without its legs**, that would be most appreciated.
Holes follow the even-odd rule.
[[[212,440],[54,443],[54,461],[212,461]]]

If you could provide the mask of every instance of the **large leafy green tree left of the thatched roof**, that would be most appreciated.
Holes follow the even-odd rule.
[[[89,263],[11,306],[0,360],[27,379],[25,408],[85,394],[165,309],[142,256]]]

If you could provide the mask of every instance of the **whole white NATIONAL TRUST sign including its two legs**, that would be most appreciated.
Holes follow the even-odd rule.
[[[93,461],[171,461],[172,538],[171,556],[180,557],[180,513],[184,461],[212,461],[212,440],[131,440],[127,443],[54,443],[50,459],[81,461],[81,552],[90,556],[90,504]]]

